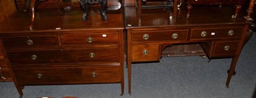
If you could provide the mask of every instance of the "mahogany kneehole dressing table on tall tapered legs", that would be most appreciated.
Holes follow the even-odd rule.
[[[126,6],[129,94],[132,63],[159,61],[166,47],[184,44],[200,44],[209,59],[232,58],[231,64],[227,65],[230,66],[226,82],[228,88],[232,75],[236,73],[236,63],[251,23],[244,18],[246,13],[232,18],[235,10],[234,6],[197,6],[186,18],[186,6],[180,6],[173,22],[170,9],[142,9],[140,14],[136,13],[134,6]]]

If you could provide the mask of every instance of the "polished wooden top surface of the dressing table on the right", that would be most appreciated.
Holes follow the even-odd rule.
[[[176,21],[173,22],[173,12],[170,9],[142,9],[141,22],[138,20],[138,13],[132,6],[125,7],[125,28],[143,27],[184,27],[197,25],[225,25],[225,24],[250,24],[246,20],[246,11],[241,10],[237,18],[232,18],[236,8],[234,6],[193,6],[191,15],[186,18],[186,8],[183,6],[177,10]]]

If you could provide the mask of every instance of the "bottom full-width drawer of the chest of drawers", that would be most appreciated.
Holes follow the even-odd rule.
[[[20,84],[52,83],[117,83],[121,81],[120,67],[45,67],[13,69]]]

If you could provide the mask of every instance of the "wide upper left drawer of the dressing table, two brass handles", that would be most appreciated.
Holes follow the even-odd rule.
[[[166,31],[133,31],[132,42],[186,41],[188,29]]]

